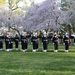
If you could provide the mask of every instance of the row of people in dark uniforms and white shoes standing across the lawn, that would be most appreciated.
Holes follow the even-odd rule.
[[[16,51],[18,51],[19,42],[20,42],[22,52],[26,52],[28,49],[28,42],[30,40],[32,44],[32,51],[36,52],[38,51],[38,46],[39,46],[38,41],[40,39],[42,42],[43,52],[47,52],[49,42],[53,43],[54,52],[58,52],[59,39],[61,39],[64,44],[65,52],[68,52],[71,38],[74,39],[74,45],[75,45],[75,36],[69,36],[67,33],[65,33],[63,36],[62,35],[58,36],[57,33],[54,33],[53,36],[50,36],[47,35],[46,32],[43,32],[42,35],[38,36],[37,32],[33,32],[32,34],[28,35],[27,32],[23,31],[20,37],[17,34],[15,35],[15,37],[11,37],[11,33],[7,32],[4,35],[0,35],[0,51],[3,49],[3,41],[4,41],[6,48],[5,50],[7,52],[12,51],[13,42],[15,43]]]

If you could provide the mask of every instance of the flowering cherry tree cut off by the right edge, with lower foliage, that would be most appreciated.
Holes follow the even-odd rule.
[[[75,0],[70,1],[70,7],[65,12],[65,18],[64,23],[67,27],[69,27],[68,30],[71,28],[75,31]]]

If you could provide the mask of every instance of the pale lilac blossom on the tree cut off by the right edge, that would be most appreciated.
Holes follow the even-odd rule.
[[[65,23],[71,25],[75,22],[75,0],[70,2],[70,8],[65,13]]]

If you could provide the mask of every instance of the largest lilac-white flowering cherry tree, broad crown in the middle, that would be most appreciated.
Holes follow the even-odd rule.
[[[63,12],[59,9],[55,0],[46,0],[41,4],[32,5],[27,9],[23,17],[23,27],[28,31],[41,29],[53,29],[57,31],[61,28]]]

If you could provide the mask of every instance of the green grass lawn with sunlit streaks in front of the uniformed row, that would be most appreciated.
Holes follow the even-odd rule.
[[[59,52],[53,52],[53,45],[49,44],[48,52],[28,51],[0,52],[0,75],[75,75],[75,46],[71,45],[69,52],[64,52],[64,46],[59,46]]]

